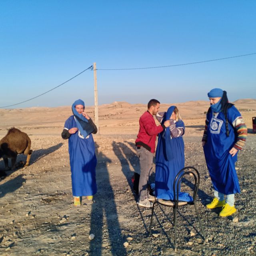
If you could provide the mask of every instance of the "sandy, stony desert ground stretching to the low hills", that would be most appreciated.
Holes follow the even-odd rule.
[[[241,187],[236,195],[238,211],[228,218],[219,217],[218,208],[205,207],[212,200],[201,146],[209,103],[175,104],[186,125],[186,166],[196,167],[201,176],[197,206],[206,232],[203,240],[193,206],[179,208],[176,253],[172,209],[156,207],[156,237],[148,237],[151,210],[137,206],[131,188],[134,170],[140,168],[134,142],[145,104],[99,106],[100,133],[94,135],[98,193],[93,202],[83,198],[79,208],[72,202],[68,141],[60,136],[71,107],[0,110],[0,138],[15,126],[29,135],[33,150],[30,166],[6,171],[0,179],[0,255],[256,255],[256,134],[252,132],[256,100],[234,103],[249,133],[236,167]],[[171,105],[161,104],[160,111]],[[86,111],[94,120],[94,107]],[[17,162],[25,159],[19,155]],[[0,169],[4,169],[2,159]],[[89,234],[95,235],[94,240]]]

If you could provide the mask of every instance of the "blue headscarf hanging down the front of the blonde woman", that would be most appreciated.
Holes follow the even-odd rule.
[[[167,112],[164,114],[163,116],[163,120],[162,120],[162,124],[166,121],[169,120],[170,117],[172,116],[172,112],[174,112],[174,108],[176,108],[176,106],[170,106],[170,108],[168,108]],[[176,122],[176,126],[184,126],[184,123],[182,122],[182,120],[178,120]],[[169,127],[167,129],[165,129],[165,131],[163,131],[160,136],[162,136],[163,138],[163,145],[165,147],[165,152],[166,152],[166,158],[167,161],[170,161],[174,158],[174,154],[173,154],[173,147],[172,147],[172,139],[171,139],[171,134],[170,134],[170,129]]]

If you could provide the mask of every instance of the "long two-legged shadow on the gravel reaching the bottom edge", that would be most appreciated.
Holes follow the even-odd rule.
[[[106,216],[111,253],[116,256],[124,256],[126,255],[126,249],[123,246],[124,239],[118,222],[114,192],[110,185],[107,168],[108,163],[112,161],[102,152],[99,152],[98,148],[98,144],[95,143],[95,152],[98,159],[96,169],[98,192],[94,195],[95,202],[92,204],[90,233],[94,234],[95,238],[90,241],[90,255],[102,255],[103,238],[105,238],[105,232],[103,233],[105,221],[103,217]],[[99,176],[101,179],[97,178]],[[97,244],[100,244],[100,246],[97,246]]]

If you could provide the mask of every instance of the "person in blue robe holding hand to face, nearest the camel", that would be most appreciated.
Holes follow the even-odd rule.
[[[92,137],[92,133],[96,134],[97,127],[84,112],[82,100],[74,102],[72,112],[73,115],[64,124],[62,138],[68,139],[74,206],[80,206],[82,196],[92,200],[92,196],[97,192],[97,159]]]

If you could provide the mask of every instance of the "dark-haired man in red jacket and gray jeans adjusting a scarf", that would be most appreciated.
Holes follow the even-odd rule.
[[[157,126],[154,115],[159,111],[160,102],[152,99],[148,102],[148,110],[140,117],[140,130],[135,141],[137,156],[140,158],[139,198],[137,204],[142,207],[152,207],[147,185],[152,170],[153,156],[156,146],[156,135],[170,126],[170,121]]]

